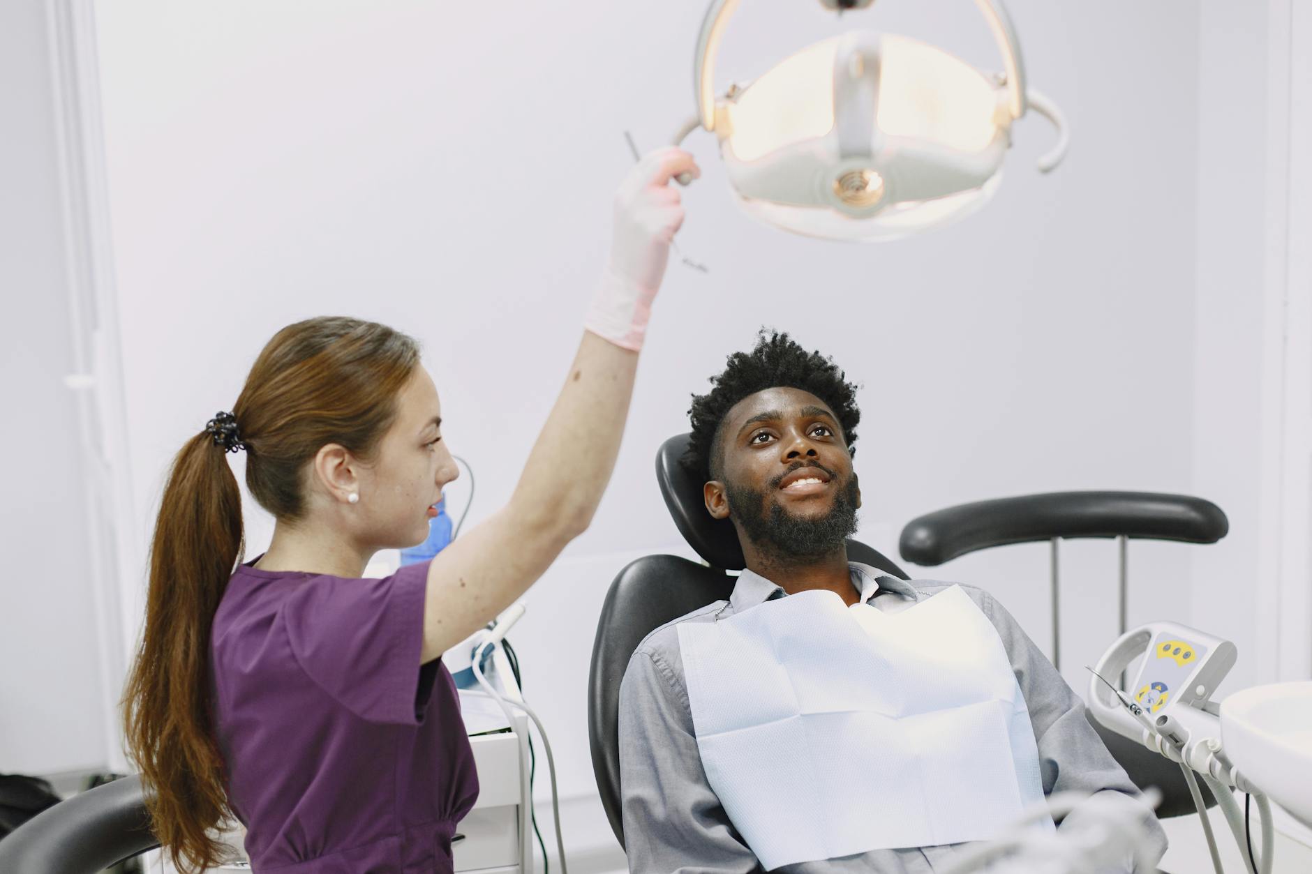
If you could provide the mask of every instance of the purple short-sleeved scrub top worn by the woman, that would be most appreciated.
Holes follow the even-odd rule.
[[[428,562],[380,580],[251,564],[228,581],[210,654],[252,869],[451,871],[479,783],[451,675],[419,661]]]

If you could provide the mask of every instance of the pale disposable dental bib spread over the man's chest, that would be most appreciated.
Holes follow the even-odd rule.
[[[1019,684],[960,587],[899,613],[800,592],[677,629],[707,781],[766,870],[989,840],[1043,799]]]

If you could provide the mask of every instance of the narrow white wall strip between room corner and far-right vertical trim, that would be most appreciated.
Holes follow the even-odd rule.
[[[1227,627],[1241,657],[1227,688],[1258,665],[1266,209],[1266,4],[1200,4],[1198,66],[1198,294],[1194,349],[1194,482],[1231,516],[1231,533],[1193,566],[1194,623]],[[1215,63],[1219,58],[1244,63]],[[1212,63],[1208,63],[1208,59]],[[1214,180],[1224,178],[1224,184]],[[1221,463],[1221,459],[1225,459]],[[1241,474],[1236,476],[1236,472]],[[1267,555],[1269,558],[1269,555]]]

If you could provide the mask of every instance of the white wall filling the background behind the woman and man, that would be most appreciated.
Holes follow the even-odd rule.
[[[1031,83],[1065,109],[1073,147],[1039,177],[1033,161],[1051,131],[1022,122],[1000,196],[960,226],[878,248],[786,236],[739,214],[714,144],[689,140],[706,176],[685,193],[680,241],[711,273],[670,266],[614,484],[513,635],[575,799],[576,848],[609,840],[589,801],[584,717],[601,600],[630,558],[686,554],[652,454],[686,428],[687,395],[761,324],[832,353],[863,383],[862,537],[876,547],[893,555],[905,521],[966,500],[1198,493],[1229,513],[1231,535],[1212,547],[1135,543],[1131,623],[1183,618],[1235,639],[1227,688],[1307,675],[1307,495],[1300,531],[1291,489],[1279,491],[1291,457],[1281,391],[1296,388],[1291,361],[1302,370],[1273,353],[1288,328],[1282,307],[1300,299],[1290,289],[1312,276],[1298,236],[1312,227],[1312,198],[1298,196],[1312,196],[1299,159],[1312,136],[1299,84],[1309,52],[1290,45],[1312,34],[1307,10],[1298,0],[1008,5]],[[80,546],[77,521],[49,521],[85,503],[87,474],[68,437],[76,407],[55,385],[77,354],[60,285],[71,280],[45,7],[0,10],[0,181],[13,193],[0,199],[0,276],[25,328],[4,358],[5,399],[50,432],[4,429],[9,457],[33,459],[5,516],[13,579],[41,585],[0,588],[0,664],[33,647],[45,657],[0,672],[0,770],[98,764],[115,745],[105,707],[91,717],[77,703],[113,698],[113,677],[87,668],[97,651],[77,642],[118,612],[115,598],[87,583],[96,550]],[[509,493],[605,257],[610,193],[630,165],[622,131],[652,147],[690,112],[703,3],[114,0],[96,10],[117,259],[101,283],[117,312],[101,315],[121,320],[122,360],[109,369],[122,366],[125,387],[118,420],[102,427],[126,432],[109,445],[130,446],[113,462],[125,627],[100,650],[122,650],[101,659],[113,675],[138,631],[168,461],[231,407],[258,348],[290,320],[346,312],[424,340],[449,440],[478,472],[471,522]],[[886,0],[859,17],[997,63],[963,1]],[[745,4],[722,81],[836,28],[806,0]],[[464,488],[453,486],[453,509]],[[257,551],[269,521],[248,520]],[[1302,570],[1290,560],[1300,543]],[[925,573],[991,588],[1047,646],[1046,547]],[[1064,546],[1063,661],[1077,688],[1078,665],[1114,634],[1114,583],[1111,543]]]

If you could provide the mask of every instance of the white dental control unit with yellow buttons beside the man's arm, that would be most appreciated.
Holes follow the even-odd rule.
[[[1149,622],[1120,635],[1094,668],[1114,677],[1143,656],[1135,681],[1123,689],[1156,731],[1144,728],[1098,676],[1089,677],[1089,710],[1106,728],[1144,744],[1176,762],[1242,791],[1257,791],[1224,759],[1220,706],[1211,699],[1235,667],[1239,651],[1229,640],[1176,622]],[[1170,728],[1172,731],[1168,731]],[[1160,734],[1158,734],[1160,732]],[[1181,743],[1164,739],[1176,734]]]

